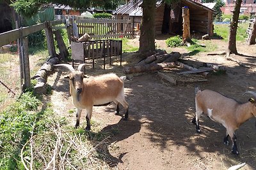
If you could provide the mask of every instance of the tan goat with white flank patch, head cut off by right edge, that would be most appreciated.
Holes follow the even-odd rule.
[[[235,131],[246,120],[253,116],[256,117],[255,99],[250,98],[246,103],[238,103],[234,99],[225,97],[212,90],[201,91],[199,87],[196,87],[195,92],[196,115],[192,122],[196,124],[196,132],[200,132],[198,120],[202,113],[205,113],[211,120],[219,122],[226,127],[227,132],[224,144],[228,145],[228,136],[230,136],[232,140],[232,153],[238,155]],[[244,94],[246,93],[256,97],[256,92],[246,91]]]

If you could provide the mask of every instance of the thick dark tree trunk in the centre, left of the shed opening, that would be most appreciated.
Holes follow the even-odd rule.
[[[140,52],[150,52],[155,48],[155,15],[156,0],[143,1],[141,4],[143,16],[141,20]]]

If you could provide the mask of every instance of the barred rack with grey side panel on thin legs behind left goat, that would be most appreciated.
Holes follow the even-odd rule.
[[[92,59],[92,67],[95,66],[95,59],[104,59],[104,69],[106,65],[106,57],[109,57],[109,65],[111,65],[111,57],[120,55],[120,66],[122,66],[122,40],[102,39],[91,41],[72,41],[72,65],[74,60],[85,62]]]

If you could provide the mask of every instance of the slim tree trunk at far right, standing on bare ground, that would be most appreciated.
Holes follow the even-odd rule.
[[[230,22],[229,38],[228,38],[228,52],[227,52],[228,56],[230,55],[230,53],[237,54],[236,32],[237,32],[237,24],[238,24],[241,3],[242,3],[242,0],[236,0],[233,15],[232,15],[232,20]]]

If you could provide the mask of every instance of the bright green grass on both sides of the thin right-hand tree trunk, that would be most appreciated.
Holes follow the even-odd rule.
[[[221,36],[224,39],[224,41],[228,41],[229,26],[230,24],[215,24],[214,33],[216,34],[216,36]],[[236,35],[237,41],[245,41],[245,39],[247,38],[246,36],[247,28],[248,28],[248,23],[238,24],[237,35]]]

